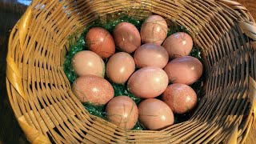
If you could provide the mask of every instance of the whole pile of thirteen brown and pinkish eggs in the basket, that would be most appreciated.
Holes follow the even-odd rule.
[[[203,68],[188,56],[193,47],[190,35],[178,32],[166,38],[167,30],[159,15],[146,18],[140,32],[129,22],[115,26],[112,35],[102,27],[91,28],[85,39],[89,50],[72,59],[78,75],[73,93],[81,102],[106,105],[107,120],[128,130],[138,121],[146,130],[174,124],[174,114],[186,114],[197,105],[197,94],[189,85],[201,78]],[[115,53],[116,46],[121,52]],[[105,73],[109,81],[126,85],[143,101],[137,106],[128,96],[114,97]]]

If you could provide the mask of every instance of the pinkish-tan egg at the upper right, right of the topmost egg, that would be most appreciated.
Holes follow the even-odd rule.
[[[166,48],[170,58],[178,58],[190,54],[193,40],[189,34],[178,32],[166,38],[162,46]]]

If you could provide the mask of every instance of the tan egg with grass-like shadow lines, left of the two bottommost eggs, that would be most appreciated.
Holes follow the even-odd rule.
[[[117,126],[131,130],[138,121],[138,107],[127,96],[118,96],[106,105],[106,118]]]

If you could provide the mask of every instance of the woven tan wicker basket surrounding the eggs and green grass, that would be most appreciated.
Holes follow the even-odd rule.
[[[161,131],[124,130],[87,113],[62,65],[68,38],[98,18],[159,14],[202,48],[204,95],[189,121]],[[243,143],[256,118],[256,24],[227,0],[34,0],[10,34],[6,86],[33,143]]]

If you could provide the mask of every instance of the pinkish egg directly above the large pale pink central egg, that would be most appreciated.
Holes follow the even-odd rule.
[[[146,43],[135,51],[134,61],[138,68],[156,66],[162,69],[168,63],[169,55],[164,47]]]

